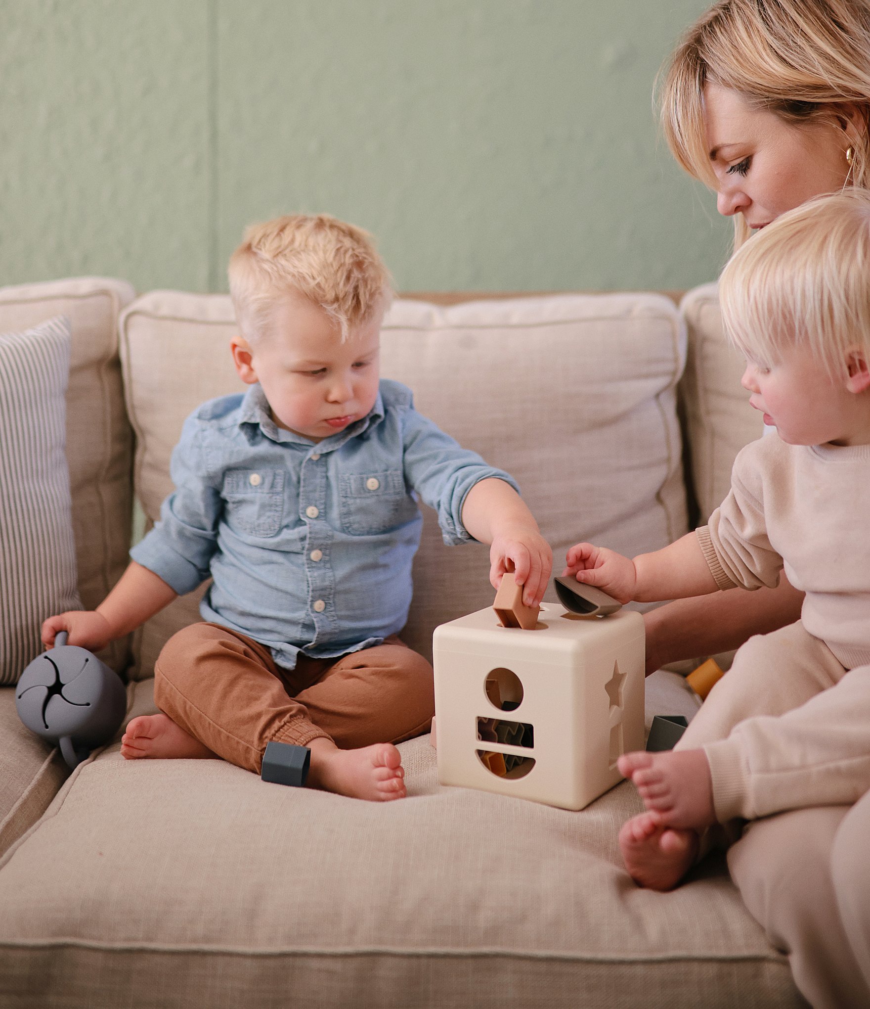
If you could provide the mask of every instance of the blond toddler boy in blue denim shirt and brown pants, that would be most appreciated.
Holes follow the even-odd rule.
[[[251,228],[230,260],[251,387],[204,404],[172,454],[160,522],[94,612],[49,618],[92,649],[128,634],[209,576],[206,623],[155,664],[161,713],[134,718],[121,753],[223,757],[259,772],[271,741],[310,749],[308,783],[359,798],[405,794],[393,744],[428,730],[430,665],[396,637],[422,519],[446,542],[492,544],[540,601],[551,555],[505,472],[379,379],[389,277],[365,232],[326,215]]]

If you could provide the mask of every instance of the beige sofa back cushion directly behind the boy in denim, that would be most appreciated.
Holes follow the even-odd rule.
[[[169,456],[204,400],[244,388],[230,358],[224,296],[152,292],[121,319],[134,478],[148,525],[171,490]],[[553,296],[440,308],[399,300],[383,327],[381,370],[417,409],[512,473],[550,542],[589,539],[634,554],[687,530],[675,385],[686,335],[656,295]],[[428,655],[432,629],[490,605],[488,549],[445,547],[428,509],[403,637]],[[134,642],[132,675],[199,619],[202,591],[175,600]],[[548,596],[551,597],[551,596]]]

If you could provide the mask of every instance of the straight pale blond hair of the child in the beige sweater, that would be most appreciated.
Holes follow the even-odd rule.
[[[870,360],[870,194],[850,189],[777,217],[731,257],[719,300],[749,358],[772,364],[803,346],[845,378],[850,348]]]

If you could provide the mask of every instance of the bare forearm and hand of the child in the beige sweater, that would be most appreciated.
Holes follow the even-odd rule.
[[[566,560],[564,575],[573,574],[578,581],[596,585],[620,602],[681,599],[719,589],[695,533],[662,550],[639,554],[634,560],[605,547],[578,543]]]

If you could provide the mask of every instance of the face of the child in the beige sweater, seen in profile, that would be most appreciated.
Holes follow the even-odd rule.
[[[870,407],[864,355],[856,351],[847,367],[848,379],[833,379],[807,348],[792,347],[772,364],[747,358],[741,383],[789,445],[863,444]]]

